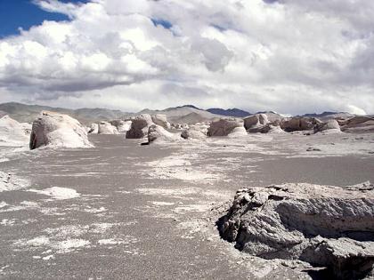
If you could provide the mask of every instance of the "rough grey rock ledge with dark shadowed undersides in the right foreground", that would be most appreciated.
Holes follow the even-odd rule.
[[[304,260],[338,279],[373,276],[374,186],[285,184],[238,190],[223,238],[264,259]]]

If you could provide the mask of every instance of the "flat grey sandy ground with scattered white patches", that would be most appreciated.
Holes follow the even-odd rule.
[[[0,172],[25,182],[0,189],[0,278],[310,279],[305,264],[222,241],[223,205],[248,186],[374,181],[373,134],[90,140],[95,148],[0,148]]]

